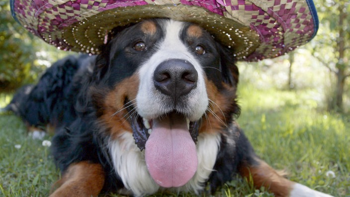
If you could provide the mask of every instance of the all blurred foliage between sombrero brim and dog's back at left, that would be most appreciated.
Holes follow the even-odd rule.
[[[9,0],[0,0],[0,92],[33,83],[52,62],[67,55],[18,24]]]

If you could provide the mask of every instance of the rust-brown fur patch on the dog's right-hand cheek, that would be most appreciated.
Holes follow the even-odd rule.
[[[209,109],[206,115],[203,116],[202,126],[199,132],[218,132],[232,121],[231,115],[232,107],[235,106],[235,88],[223,84],[225,91],[219,92],[217,87],[209,81],[205,80],[207,95],[209,100]],[[223,93],[224,92],[224,93]]]

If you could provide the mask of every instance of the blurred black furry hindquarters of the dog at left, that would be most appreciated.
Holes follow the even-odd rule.
[[[55,130],[62,124],[74,121],[75,92],[73,87],[80,72],[91,70],[89,56],[67,56],[55,62],[40,77],[36,85],[20,88],[3,111],[12,111],[19,116],[29,132]],[[79,73],[79,74],[78,74]],[[74,81],[75,80],[75,81]]]

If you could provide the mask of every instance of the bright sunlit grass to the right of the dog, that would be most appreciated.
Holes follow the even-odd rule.
[[[310,92],[239,90],[238,119],[267,163],[289,178],[336,196],[350,194],[349,117],[319,111]],[[332,171],[335,178],[326,176]]]

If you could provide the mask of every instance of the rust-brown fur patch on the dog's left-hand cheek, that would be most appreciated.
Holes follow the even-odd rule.
[[[109,135],[112,138],[118,137],[125,131],[132,132],[127,118],[130,116],[129,113],[134,111],[128,112],[126,107],[136,98],[138,87],[139,79],[134,74],[118,83],[112,91],[105,93],[101,106],[102,112],[98,119],[104,127],[109,128]],[[131,102],[124,103],[126,99]]]

